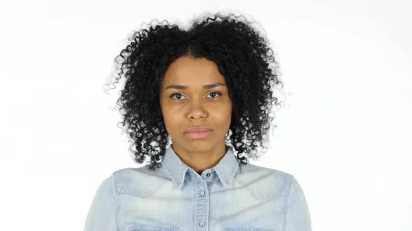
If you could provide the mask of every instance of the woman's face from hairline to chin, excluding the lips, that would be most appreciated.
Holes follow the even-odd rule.
[[[216,84],[216,86],[209,86]],[[221,85],[220,85],[221,84]],[[173,147],[191,152],[225,148],[232,102],[225,77],[215,62],[183,56],[165,72],[160,90],[161,112]],[[211,129],[206,138],[190,138],[190,127]]]

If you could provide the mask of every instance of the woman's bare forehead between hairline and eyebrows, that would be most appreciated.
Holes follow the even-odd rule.
[[[225,82],[217,64],[206,58],[188,56],[182,56],[170,64],[163,79],[163,84],[203,85],[211,82]]]

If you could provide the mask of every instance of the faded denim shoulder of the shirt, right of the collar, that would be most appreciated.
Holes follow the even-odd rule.
[[[246,187],[256,199],[287,197],[294,176],[285,171],[260,167],[250,162],[240,165],[236,181]]]

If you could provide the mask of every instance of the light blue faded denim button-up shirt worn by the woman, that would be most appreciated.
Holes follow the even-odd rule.
[[[170,145],[155,171],[115,171],[98,187],[84,231],[311,231],[304,191],[275,169],[242,165],[227,146],[199,175]]]

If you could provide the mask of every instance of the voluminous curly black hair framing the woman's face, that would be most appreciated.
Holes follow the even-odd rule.
[[[279,64],[267,39],[251,22],[219,12],[203,14],[192,22],[187,30],[169,23],[138,30],[114,60],[119,71],[113,86],[122,76],[126,79],[116,102],[119,110],[124,110],[120,123],[126,125],[133,143],[130,151],[135,162],[142,164],[150,156],[150,170],[159,167],[157,162],[170,142],[160,108],[161,80],[168,66],[181,56],[216,62],[225,77],[233,102],[226,141],[243,165],[248,160],[240,154],[255,159],[258,145],[264,147],[268,142],[274,119],[271,109],[280,104],[272,89],[284,85],[279,80]]]

